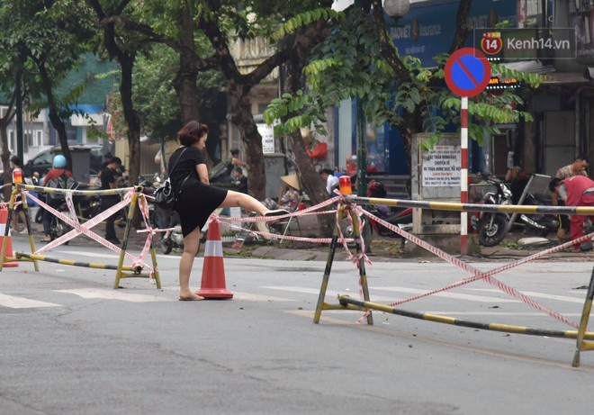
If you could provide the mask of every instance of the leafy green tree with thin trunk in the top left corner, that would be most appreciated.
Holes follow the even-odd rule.
[[[64,94],[57,94],[56,88],[76,68],[94,38],[88,9],[75,0],[5,0],[0,7],[0,27],[0,46],[14,58],[10,61],[14,71],[23,74],[25,103],[31,100],[28,108],[33,112],[49,108],[49,120],[70,163],[63,120],[73,113],[84,114],[76,109],[84,86],[73,86]],[[32,101],[40,97],[40,91],[44,99]]]

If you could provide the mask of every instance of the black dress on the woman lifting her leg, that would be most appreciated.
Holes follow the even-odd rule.
[[[196,166],[200,164],[205,164],[204,156],[194,147],[180,147],[169,158],[171,185],[175,194],[179,192],[175,212],[179,214],[184,237],[196,228],[202,229],[211,213],[227,197],[227,190],[204,185],[200,181],[196,171]]]

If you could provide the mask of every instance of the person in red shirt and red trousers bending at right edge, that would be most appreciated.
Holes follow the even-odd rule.
[[[566,206],[594,206],[594,180],[588,176],[572,176],[564,180],[555,177],[549,184],[549,190],[558,194]],[[588,218],[585,215],[570,217],[572,240],[584,236],[583,226]],[[581,250],[590,250],[592,244],[585,242],[581,244],[580,248]]]

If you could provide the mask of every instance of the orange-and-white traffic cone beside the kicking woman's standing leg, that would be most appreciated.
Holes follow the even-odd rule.
[[[222,256],[219,222],[211,221],[204,245],[204,265],[202,266],[202,285],[196,292],[204,298],[233,298],[225,284],[225,266]]]

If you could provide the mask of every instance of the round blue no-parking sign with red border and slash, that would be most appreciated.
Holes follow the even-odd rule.
[[[489,85],[491,64],[481,50],[462,48],[446,62],[446,84],[455,95],[479,95]]]

